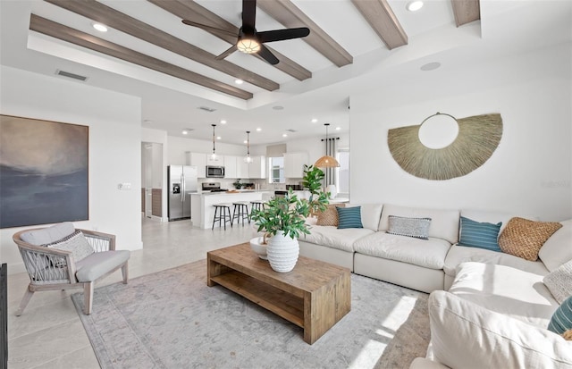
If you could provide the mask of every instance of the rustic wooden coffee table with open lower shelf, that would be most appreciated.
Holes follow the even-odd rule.
[[[277,273],[248,243],[206,254],[206,284],[231,289],[304,329],[310,345],[349,313],[349,269],[299,256],[289,273]]]

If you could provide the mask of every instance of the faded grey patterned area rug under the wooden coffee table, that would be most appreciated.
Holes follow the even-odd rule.
[[[427,295],[351,275],[351,311],[308,345],[303,331],[221,286],[206,261],[72,295],[102,368],[408,368],[429,341]]]

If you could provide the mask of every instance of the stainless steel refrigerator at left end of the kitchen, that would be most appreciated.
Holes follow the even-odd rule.
[[[189,165],[169,165],[169,222],[190,218],[190,194],[197,192],[197,167]]]

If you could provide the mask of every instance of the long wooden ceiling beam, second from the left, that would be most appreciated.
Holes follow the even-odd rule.
[[[172,53],[184,56],[195,62],[205,64],[217,71],[231,75],[234,78],[245,80],[259,88],[273,91],[280,88],[280,85],[273,80],[268,80],[252,71],[248,71],[238,65],[225,60],[216,60],[205,50],[191,45],[188,42],[175,38],[174,36],[156,29],[139,21],[127,14],[118,12],[105,4],[95,0],[45,0],[47,3],[55,4],[72,13],[80,14],[90,20],[98,21],[113,29],[120,30],[135,38],[140,38],[150,44],[162,47]]]

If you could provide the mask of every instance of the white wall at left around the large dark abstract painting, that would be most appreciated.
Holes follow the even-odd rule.
[[[89,126],[89,220],[75,226],[115,234],[118,248],[141,248],[139,97],[4,66],[0,71],[0,113]],[[131,189],[119,190],[122,182]],[[24,271],[12,236],[25,228],[0,230],[9,273]]]

